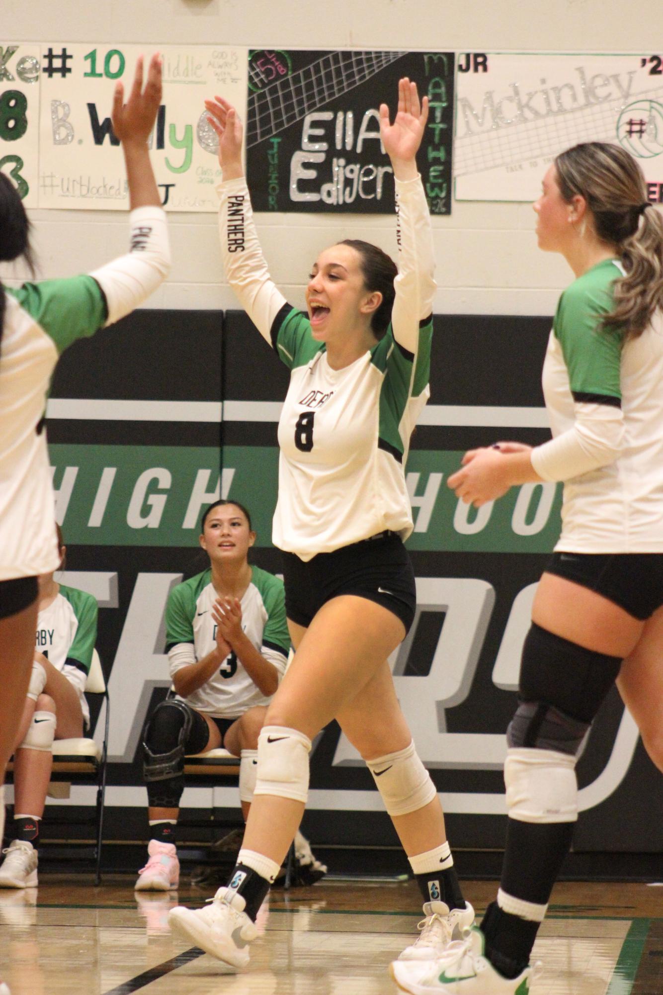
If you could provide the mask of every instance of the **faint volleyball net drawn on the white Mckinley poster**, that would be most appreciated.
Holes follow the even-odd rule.
[[[489,131],[456,137],[453,173],[471,176],[500,166],[516,166],[540,156],[554,156],[581,141],[619,140],[637,158],[663,153],[663,88],[631,94],[627,100],[607,100],[572,107],[526,123],[514,122]],[[633,105],[622,128],[622,111]],[[460,100],[457,113],[461,111]]]

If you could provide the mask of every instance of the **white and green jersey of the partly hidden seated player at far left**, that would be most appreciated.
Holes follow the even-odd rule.
[[[60,592],[37,618],[35,649],[76,688],[85,725],[89,724],[89,708],[83,692],[96,642],[97,614],[91,594],[61,584]]]

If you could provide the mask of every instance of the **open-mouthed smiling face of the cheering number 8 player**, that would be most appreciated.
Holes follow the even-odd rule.
[[[352,246],[330,246],[320,253],[306,287],[306,306],[313,337],[319,342],[370,328],[382,295],[369,292],[361,258]]]

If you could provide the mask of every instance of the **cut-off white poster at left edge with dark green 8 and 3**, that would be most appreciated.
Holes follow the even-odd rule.
[[[40,46],[0,43],[0,171],[37,207]]]

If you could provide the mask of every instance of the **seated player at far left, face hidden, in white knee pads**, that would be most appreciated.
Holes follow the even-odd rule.
[[[58,531],[59,569],[67,548]],[[39,824],[53,768],[54,739],[83,735],[89,708],[83,694],[96,642],[96,601],[85,591],[39,578],[35,660],[23,720],[14,750],[12,843],[0,866],[0,888],[38,884]]]

